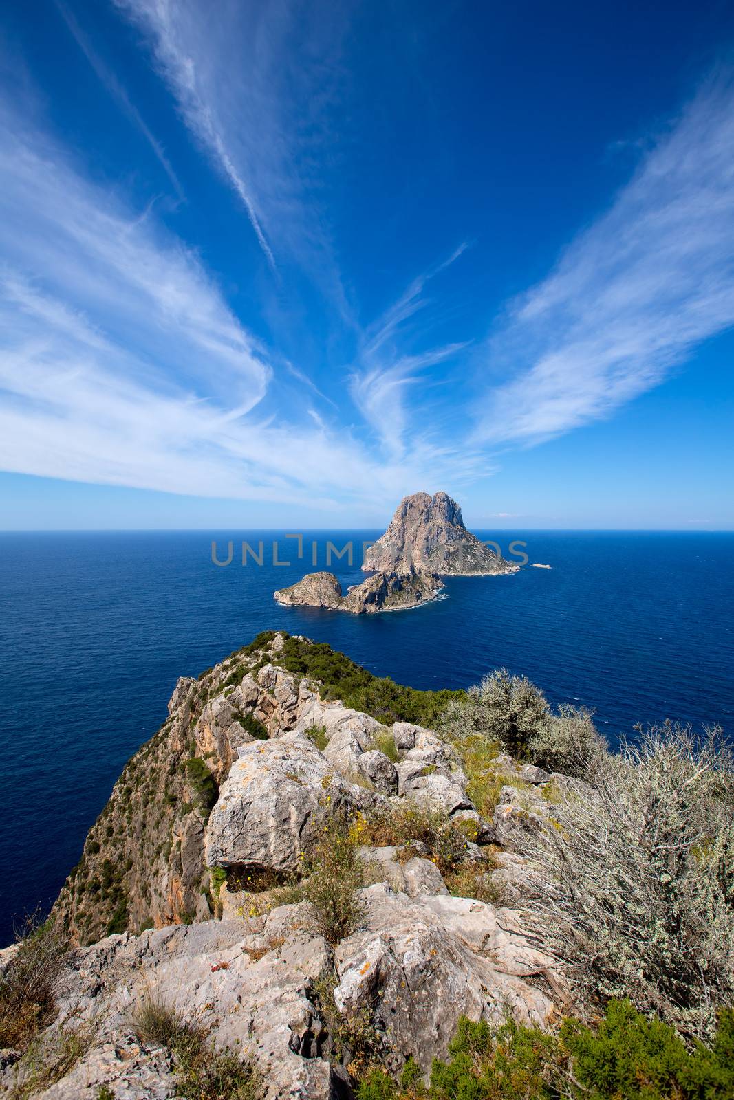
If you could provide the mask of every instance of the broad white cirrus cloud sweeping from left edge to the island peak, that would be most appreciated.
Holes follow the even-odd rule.
[[[271,356],[198,258],[7,105],[0,178],[0,469],[331,509],[468,473],[452,448],[397,463],[330,428],[297,367],[296,413],[261,411]]]

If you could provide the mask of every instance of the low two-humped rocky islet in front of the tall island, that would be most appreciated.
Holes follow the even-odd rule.
[[[308,573],[287,588],[273,593],[280,604],[296,607],[329,607],[353,615],[393,612],[417,607],[435,600],[443,587],[438,576],[413,568],[377,572],[361,584],[354,584],[342,595],[333,573]]]

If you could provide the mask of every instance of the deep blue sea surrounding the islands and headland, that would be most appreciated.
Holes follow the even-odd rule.
[[[260,630],[328,641],[416,688],[467,686],[505,666],[555,702],[593,707],[615,741],[637,722],[720,723],[734,734],[734,535],[522,531],[545,569],[456,578],[446,598],[376,616],[281,607],[273,590],[326,568],[363,579],[362,539],[308,532],[304,559],[277,532],[0,536],[0,944],[13,916],[47,906],[124,761],[197,675]],[[494,537],[508,552],[511,536]],[[232,564],[211,562],[234,542]],[[242,539],[264,564],[240,563]],[[273,565],[278,540],[286,566]]]

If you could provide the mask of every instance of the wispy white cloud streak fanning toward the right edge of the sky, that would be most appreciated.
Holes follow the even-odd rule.
[[[734,86],[701,89],[487,354],[474,433],[532,444],[611,415],[734,323]]]

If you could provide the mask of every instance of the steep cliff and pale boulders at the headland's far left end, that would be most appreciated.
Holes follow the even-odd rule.
[[[272,634],[199,680],[177,682],[168,718],[125,766],[56,902],[55,914],[75,939],[91,943],[110,932],[208,916],[208,868],[219,859],[221,866],[282,871],[294,837],[319,820],[328,774],[338,806],[359,807],[401,791],[397,769],[375,740],[385,727],[324,702],[318,683],[280,668],[283,641]],[[324,754],[308,740],[314,728],[324,729]],[[434,761],[428,732],[409,728],[412,750],[401,757],[412,796],[427,804],[438,782],[424,773]],[[291,732],[297,738],[278,748]],[[451,774],[450,762],[441,770]],[[462,794],[452,791],[446,801],[452,800],[458,805]],[[226,835],[232,844],[241,837],[242,847],[227,848]]]

